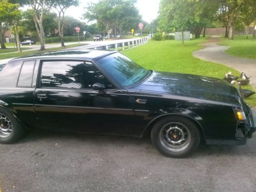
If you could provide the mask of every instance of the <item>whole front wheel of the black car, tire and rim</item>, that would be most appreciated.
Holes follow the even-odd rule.
[[[154,124],[151,139],[161,154],[183,158],[197,150],[200,133],[193,121],[185,117],[173,116],[162,118]]]

